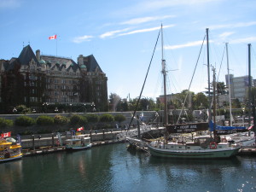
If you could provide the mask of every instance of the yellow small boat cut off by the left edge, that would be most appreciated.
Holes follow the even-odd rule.
[[[0,138],[0,162],[19,160],[22,157],[21,145],[12,143],[11,137]]]

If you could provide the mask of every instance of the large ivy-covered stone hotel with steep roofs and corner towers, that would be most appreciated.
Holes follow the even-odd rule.
[[[108,111],[108,78],[94,55],[71,58],[33,53],[30,45],[19,57],[0,61],[1,107],[8,113],[24,104],[38,113],[55,106],[86,105],[89,110]],[[61,107],[62,106],[62,107]],[[67,110],[67,108],[66,108]]]

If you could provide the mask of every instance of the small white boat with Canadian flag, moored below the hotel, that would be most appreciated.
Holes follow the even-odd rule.
[[[91,148],[90,137],[85,135],[71,136],[66,140],[67,150],[82,150]]]

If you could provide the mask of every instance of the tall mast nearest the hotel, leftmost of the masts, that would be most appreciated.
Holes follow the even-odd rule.
[[[166,60],[164,60],[164,38],[163,38],[163,25],[161,25],[161,42],[162,42],[162,73],[164,77],[164,102],[165,102],[165,124],[168,124],[167,114],[167,98],[166,98]]]

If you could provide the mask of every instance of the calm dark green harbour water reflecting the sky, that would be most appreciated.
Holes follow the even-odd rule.
[[[256,191],[256,157],[166,160],[126,145],[0,164],[0,191]]]

